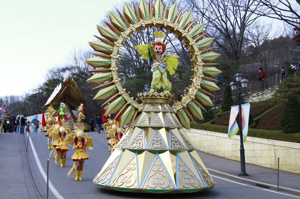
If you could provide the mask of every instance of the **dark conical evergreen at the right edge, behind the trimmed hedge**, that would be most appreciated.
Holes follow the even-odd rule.
[[[300,123],[296,120],[300,115],[300,107],[298,106],[299,100],[294,94],[289,94],[289,100],[280,119],[280,126],[284,133],[297,133],[300,131]]]

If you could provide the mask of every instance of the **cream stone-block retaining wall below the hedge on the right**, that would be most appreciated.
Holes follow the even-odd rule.
[[[232,160],[240,160],[240,136],[228,138],[227,134],[191,129],[187,136],[196,149]],[[247,137],[244,143],[246,163],[282,171],[300,173],[300,144]]]

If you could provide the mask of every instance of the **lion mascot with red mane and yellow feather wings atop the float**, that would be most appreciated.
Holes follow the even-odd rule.
[[[156,37],[156,43],[149,43],[137,45],[134,48],[142,55],[141,59],[149,59],[153,62],[151,67],[152,82],[150,92],[155,92],[156,88],[163,87],[164,93],[170,94],[171,83],[167,78],[166,70],[170,72],[170,75],[175,73],[175,70],[178,66],[179,56],[167,54],[165,52],[166,44],[162,43],[166,34],[155,32],[153,33]]]

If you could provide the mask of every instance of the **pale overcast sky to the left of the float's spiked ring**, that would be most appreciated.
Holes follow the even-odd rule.
[[[46,69],[74,48],[90,49],[96,25],[124,0],[2,0],[0,97],[22,95],[44,83]]]

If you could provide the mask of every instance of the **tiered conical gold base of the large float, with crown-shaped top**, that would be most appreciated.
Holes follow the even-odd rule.
[[[104,189],[128,192],[212,189],[216,183],[168,104],[170,95],[152,94],[142,100],[143,110],[93,182]]]

